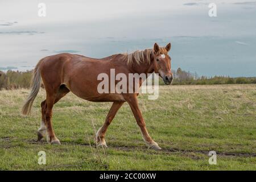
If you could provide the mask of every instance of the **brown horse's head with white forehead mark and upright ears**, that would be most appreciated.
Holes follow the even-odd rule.
[[[171,43],[168,43],[166,47],[159,47],[158,44],[154,44],[154,71],[159,73],[163,78],[164,84],[170,85],[174,79],[171,72],[171,57],[168,55],[168,51],[171,49]]]

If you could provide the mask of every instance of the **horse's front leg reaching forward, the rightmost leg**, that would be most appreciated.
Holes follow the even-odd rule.
[[[153,148],[155,150],[160,150],[161,148],[158,146],[154,140],[150,137],[150,135],[147,132],[146,129],[146,123],[144,122],[144,119],[142,117],[141,110],[139,110],[139,105],[138,105],[138,100],[137,100],[137,95],[136,94],[127,94],[126,95],[126,101],[131,107],[131,110],[133,111],[134,117],[137,121],[137,124],[141,128],[141,133],[143,135],[143,138],[148,145],[148,147]]]

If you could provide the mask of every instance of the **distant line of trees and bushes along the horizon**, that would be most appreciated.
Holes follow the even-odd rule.
[[[30,88],[32,73],[33,71],[0,71],[0,90]],[[176,71],[173,70],[172,73],[174,74],[173,85],[256,84],[256,77],[199,77],[197,73],[183,71],[181,68],[178,68]],[[159,80],[159,85],[164,85],[164,82]]]

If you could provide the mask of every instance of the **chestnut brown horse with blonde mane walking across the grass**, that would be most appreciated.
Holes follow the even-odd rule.
[[[34,69],[32,90],[22,108],[22,113],[25,115],[30,113],[32,103],[39,92],[42,77],[46,89],[46,100],[41,104],[42,122],[38,129],[39,141],[46,136],[49,143],[60,144],[52,127],[52,107],[71,91],[76,96],[88,101],[113,102],[104,125],[97,131],[96,143],[106,147],[106,130],[118,109],[124,102],[128,102],[147,145],[156,150],[160,149],[147,132],[141,110],[139,110],[138,93],[99,93],[97,86],[100,81],[97,76],[100,73],[110,75],[110,69],[115,69],[115,73],[124,73],[125,75],[155,72],[159,73],[166,84],[171,84],[173,76],[171,57],[168,56],[170,49],[171,43],[166,47],[159,47],[155,43],[153,49],[135,51],[130,54],[116,54],[103,59],[69,53],[44,57]],[[139,86],[141,86],[141,81]]]

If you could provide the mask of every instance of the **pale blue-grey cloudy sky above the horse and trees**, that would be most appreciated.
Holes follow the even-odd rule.
[[[39,3],[46,17],[39,17]],[[209,3],[217,16],[210,17]],[[171,42],[172,69],[256,76],[256,1],[2,1],[0,69],[33,69],[61,52],[101,58]]]

